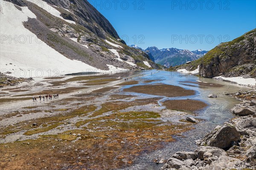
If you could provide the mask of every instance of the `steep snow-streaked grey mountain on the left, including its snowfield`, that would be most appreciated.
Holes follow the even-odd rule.
[[[148,64],[158,68],[148,54],[120,40],[87,0],[1,1],[3,72],[22,70],[29,77],[38,76],[37,70],[49,76],[149,68]]]

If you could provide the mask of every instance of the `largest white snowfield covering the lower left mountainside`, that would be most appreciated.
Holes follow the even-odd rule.
[[[2,0],[1,0],[2,1]],[[23,22],[36,18],[27,7],[17,10],[12,3],[1,6],[0,13],[0,69],[12,72],[15,77],[47,77],[76,72],[101,72],[84,62],[71,60],[37,39],[23,26]],[[29,37],[28,37],[29,35]],[[9,38],[17,37],[17,40]],[[23,39],[19,39],[22,37]]]

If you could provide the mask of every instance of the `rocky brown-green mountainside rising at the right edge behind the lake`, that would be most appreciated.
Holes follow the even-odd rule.
[[[194,70],[199,65],[199,75],[212,78],[256,77],[256,29],[230,42],[223,42],[210,50],[204,57],[176,69]]]

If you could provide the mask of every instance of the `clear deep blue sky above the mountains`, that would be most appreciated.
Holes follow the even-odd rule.
[[[256,28],[256,0],[88,0],[128,45],[210,50]]]

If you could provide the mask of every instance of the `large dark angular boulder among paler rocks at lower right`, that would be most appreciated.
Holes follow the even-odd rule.
[[[232,142],[240,141],[240,133],[236,130],[236,127],[224,125],[220,129],[208,133],[203,141],[211,147],[232,147]]]

